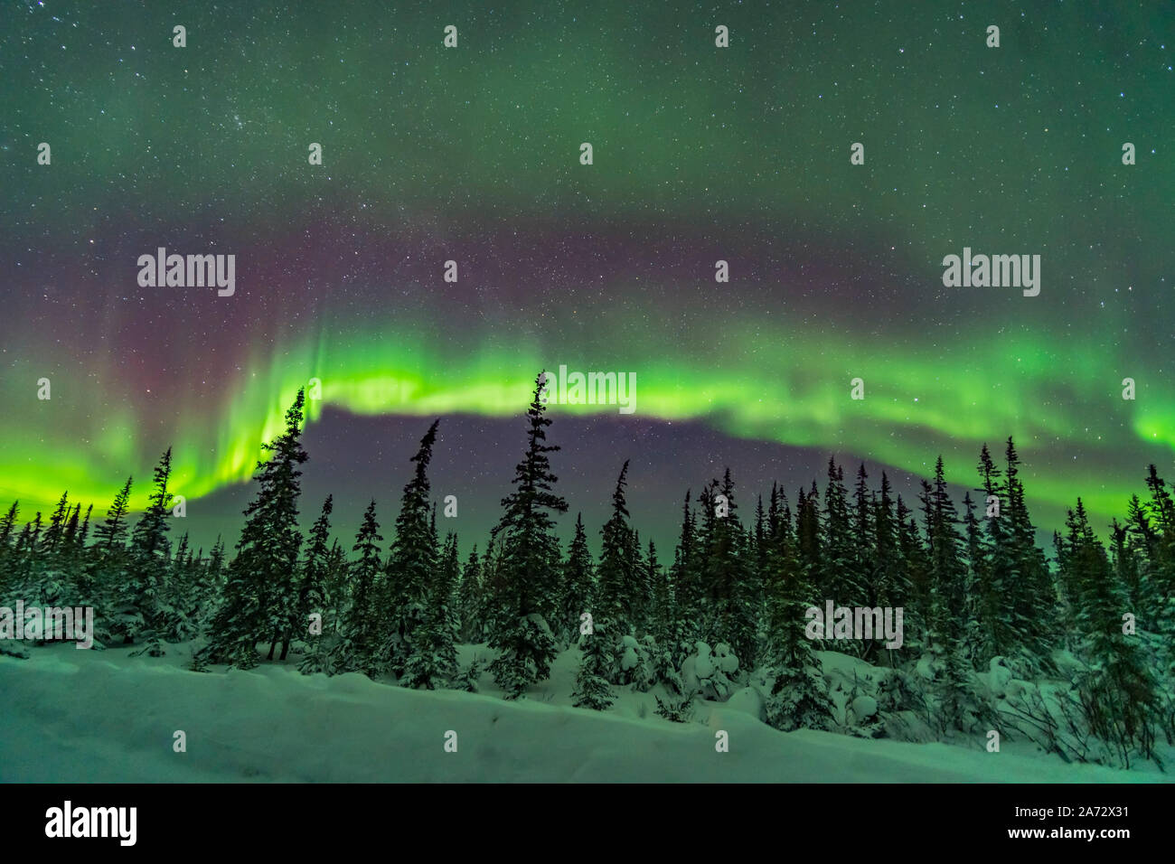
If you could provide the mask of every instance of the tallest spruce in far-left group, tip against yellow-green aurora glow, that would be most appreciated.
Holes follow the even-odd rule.
[[[153,475],[154,488],[147,498],[147,509],[130,534],[130,555],[126,581],[118,589],[115,621],[126,643],[141,644],[140,651],[153,657],[163,654],[162,638],[166,619],[172,610],[167,605],[167,576],[170,548],[173,495],[167,488],[172,477],[172,448],[160,458]]]

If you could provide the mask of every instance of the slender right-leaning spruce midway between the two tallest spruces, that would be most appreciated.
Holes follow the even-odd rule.
[[[410,460],[415,469],[400,500],[396,537],[388,551],[385,588],[381,594],[380,628],[384,638],[376,658],[397,678],[404,675],[417,650],[416,639],[428,628],[427,590],[437,569],[438,552],[428,468],[439,424],[439,420],[432,421]]]

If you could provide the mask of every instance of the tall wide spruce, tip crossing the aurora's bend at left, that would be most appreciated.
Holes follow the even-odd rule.
[[[286,430],[261,446],[269,458],[257,462],[257,494],[244,510],[244,528],[228,568],[223,601],[197,665],[228,663],[251,669],[257,665],[257,639],[270,639],[273,657],[277,641],[289,637],[287,628],[297,604],[294,574],[302,548],[297,525],[302,476],[298,466],[308,458],[301,443],[304,404],[306,393],[300,389],[286,411]]]

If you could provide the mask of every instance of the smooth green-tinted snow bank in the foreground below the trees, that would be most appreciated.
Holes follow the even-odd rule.
[[[462,659],[484,649],[464,645]],[[188,645],[161,658],[128,649],[34,648],[0,656],[0,781],[51,782],[1162,782],[1154,771],[1069,765],[1008,743],[946,744],[777,731],[753,694],[703,703],[694,722],[653,714],[652,694],[617,688],[611,711],[570,706],[579,652],[505,702],[416,691],[293,665],[187,671]],[[748,712],[751,711],[751,712]],[[187,751],[175,752],[182,730]],[[725,730],[728,752],[716,751]],[[457,751],[445,751],[446,732]],[[449,736],[451,738],[451,736]]]

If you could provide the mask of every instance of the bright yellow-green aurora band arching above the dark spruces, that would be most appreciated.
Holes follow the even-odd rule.
[[[327,335],[336,328],[321,328],[273,356],[258,355],[246,374],[226,383],[217,404],[182,403],[159,431],[149,433],[150,418],[130,408],[113,417],[107,413],[101,427],[86,429],[89,447],[83,450],[75,447],[78,427],[49,422],[48,407],[73,396],[85,400],[86,391],[54,390],[53,401],[42,403],[47,416],[40,428],[29,429],[15,413],[0,421],[0,435],[9,442],[0,460],[6,478],[0,494],[21,498],[31,516],[32,508],[45,509],[68,489],[72,500],[93,501],[102,513],[133,473],[134,500],[141,507],[149,468],[174,444],[173,488],[194,500],[251,476],[260,442],[281,430],[297,389],[311,379],[321,381],[322,398],[308,403],[309,423],[325,407],[358,415],[510,417],[529,402],[533,375],[559,363],[634,371],[634,417],[703,421],[732,437],[860,454],[924,476],[948,438],[948,480],[965,485],[974,485],[980,447],[987,442],[1000,455],[1003,438],[1012,435],[1026,458],[1034,501],[1062,508],[1081,495],[1092,513],[1107,518],[1121,514],[1129,495],[1140,491],[1146,463],[1156,462],[1162,473],[1175,450],[1169,381],[1139,376],[1139,398],[1127,401],[1115,363],[1080,349],[1046,351],[1027,339],[1019,344],[956,344],[947,364],[938,363],[931,350],[878,353],[877,346],[848,339],[838,343],[827,335],[792,336],[786,346],[764,341],[748,319],[728,323],[723,344],[754,344],[756,351],[726,356],[718,347],[711,363],[696,364],[666,356],[664,346],[672,344],[667,329],[606,351],[592,340],[582,347],[559,340],[557,351],[536,340],[488,344],[462,356],[431,343],[423,327],[395,337],[371,324],[362,328],[351,324],[345,339]],[[609,330],[606,321],[600,329]],[[14,377],[29,376],[35,377],[32,370]],[[866,388],[859,401],[850,398],[857,376]],[[1047,408],[1028,413],[1021,406]],[[555,418],[563,413],[617,415],[615,406],[593,404],[551,404],[550,411]],[[1136,447],[1120,446],[1123,428]],[[557,442],[558,426],[552,435]],[[1066,456],[1050,457],[1059,444]],[[1081,464],[1068,456],[1077,450]],[[52,460],[45,458],[47,451],[55,454]],[[1096,470],[1083,468],[1086,463]]]

